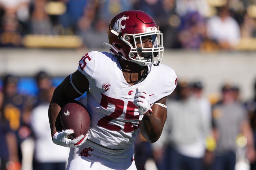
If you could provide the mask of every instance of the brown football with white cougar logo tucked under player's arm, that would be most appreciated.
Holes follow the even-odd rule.
[[[73,100],[62,107],[60,111],[60,122],[63,130],[74,130],[74,133],[68,136],[74,139],[79,135],[86,135],[90,128],[91,119],[83,104],[77,100]]]

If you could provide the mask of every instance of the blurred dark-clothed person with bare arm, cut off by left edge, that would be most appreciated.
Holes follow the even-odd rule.
[[[4,94],[0,89],[0,170],[6,170],[7,167],[11,166],[19,169],[17,138],[3,116],[3,101]]]

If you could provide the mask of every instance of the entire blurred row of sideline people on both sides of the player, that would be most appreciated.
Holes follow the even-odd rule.
[[[69,148],[53,144],[48,121],[54,88],[63,78],[56,82],[40,71],[30,79],[36,88],[26,88],[33,92],[15,75],[0,82],[0,170],[63,170]],[[215,99],[204,95],[204,87],[200,80],[178,81],[159,140],[136,139],[138,170],[256,170],[256,81],[248,101],[240,99],[236,85],[223,84]],[[86,105],[85,95],[77,100]]]

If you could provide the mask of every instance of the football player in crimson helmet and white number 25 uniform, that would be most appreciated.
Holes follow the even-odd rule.
[[[69,170],[136,169],[133,143],[138,131],[148,142],[160,137],[166,120],[165,101],[176,87],[174,70],[160,64],[163,35],[145,12],[124,11],[108,26],[110,53],[91,51],[78,70],[55,89],[49,107],[52,140],[70,147]],[[86,92],[91,127],[69,139],[58,114],[71,99]],[[86,140],[86,141],[85,141]],[[138,160],[140,161],[140,160]]]

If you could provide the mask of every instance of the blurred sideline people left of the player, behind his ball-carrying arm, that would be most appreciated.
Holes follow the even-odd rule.
[[[16,75],[7,74],[2,79],[0,169],[65,169],[69,148],[53,144],[49,133],[48,107],[55,87],[45,71],[31,79],[36,86],[33,95],[19,90]]]

